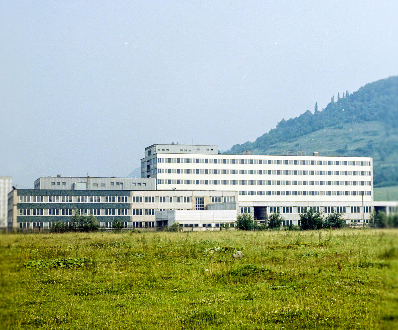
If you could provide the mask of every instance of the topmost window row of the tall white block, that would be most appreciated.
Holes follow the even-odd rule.
[[[331,160],[322,161],[322,160],[295,160],[295,159],[217,159],[217,158],[214,158],[214,159],[213,158],[158,158],[157,163],[338,165],[338,166],[370,166],[371,165],[370,161],[331,161]],[[141,163],[141,167],[145,167],[145,166],[146,166],[145,162]]]

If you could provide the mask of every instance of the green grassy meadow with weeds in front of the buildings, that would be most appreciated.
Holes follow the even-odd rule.
[[[341,229],[1,235],[0,324],[396,329],[397,234]],[[236,249],[244,258],[232,258]]]

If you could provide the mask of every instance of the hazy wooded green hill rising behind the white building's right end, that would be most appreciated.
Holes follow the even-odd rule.
[[[375,186],[398,184],[398,77],[369,83],[343,93],[322,111],[306,111],[254,142],[236,144],[226,153],[279,155],[283,151],[318,151],[328,156],[373,157]]]

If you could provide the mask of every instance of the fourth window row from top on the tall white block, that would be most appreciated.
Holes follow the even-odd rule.
[[[371,191],[239,190],[240,196],[371,196]]]

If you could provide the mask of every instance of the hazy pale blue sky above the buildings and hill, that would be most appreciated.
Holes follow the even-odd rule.
[[[254,140],[398,74],[394,1],[0,4],[0,175],[125,176],[154,143]]]

